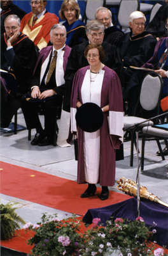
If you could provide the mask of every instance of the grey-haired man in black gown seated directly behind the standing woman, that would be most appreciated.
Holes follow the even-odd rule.
[[[116,47],[104,42],[104,25],[98,20],[90,20],[86,26],[86,33],[88,40],[83,41],[73,47],[71,54],[69,55],[65,80],[66,80],[66,94],[64,96],[63,109],[70,111],[70,100],[71,100],[71,88],[73,84],[73,77],[79,68],[88,65],[88,61],[84,56],[84,51],[89,44],[102,45],[105,53],[104,64],[109,68],[113,68],[116,72],[119,72],[118,61],[116,60]]]

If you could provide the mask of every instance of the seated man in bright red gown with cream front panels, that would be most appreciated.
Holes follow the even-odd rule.
[[[32,12],[27,13],[20,24],[21,31],[29,36],[41,50],[50,41],[50,30],[59,18],[45,9],[46,0],[31,0]]]

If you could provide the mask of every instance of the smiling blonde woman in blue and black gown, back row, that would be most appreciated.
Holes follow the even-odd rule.
[[[86,38],[85,24],[79,20],[80,6],[75,0],[64,0],[59,11],[60,19],[66,20],[62,23],[66,27],[66,44],[73,47],[80,44]]]

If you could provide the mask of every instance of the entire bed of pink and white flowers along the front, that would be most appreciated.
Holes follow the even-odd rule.
[[[34,256],[166,256],[163,248],[153,252],[148,246],[155,231],[150,231],[141,217],[134,221],[111,218],[106,227],[95,218],[84,233],[82,222],[75,216],[60,221],[56,215],[43,214],[41,220],[38,225],[25,225],[35,231],[29,240],[29,244],[34,244]]]

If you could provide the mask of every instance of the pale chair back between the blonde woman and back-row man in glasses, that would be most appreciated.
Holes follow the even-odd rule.
[[[94,2],[94,3],[93,3]],[[85,15],[84,20],[87,23],[88,20],[95,19],[95,11],[100,6],[103,6],[104,0],[87,0],[86,8],[85,8]]]

